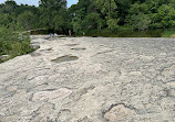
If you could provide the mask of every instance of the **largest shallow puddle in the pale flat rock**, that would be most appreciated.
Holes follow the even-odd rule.
[[[65,56],[61,56],[61,57],[58,57],[55,59],[52,59],[51,62],[53,62],[53,63],[62,63],[62,62],[71,62],[71,60],[76,60],[76,59],[79,59],[78,56],[65,55]]]

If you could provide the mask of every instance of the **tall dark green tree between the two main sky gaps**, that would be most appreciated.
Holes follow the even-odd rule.
[[[65,8],[66,0],[41,0],[40,1],[40,19],[41,25],[54,30],[63,26],[63,21],[66,21]],[[63,12],[64,11],[64,12]],[[64,14],[63,14],[64,13]]]

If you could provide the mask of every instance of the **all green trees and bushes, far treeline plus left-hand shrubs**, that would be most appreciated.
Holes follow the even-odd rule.
[[[27,30],[47,33],[99,36],[152,35],[150,30],[175,27],[175,0],[79,0],[66,8],[66,0],[40,0],[39,7],[8,0],[0,4],[0,55],[14,57],[30,53]],[[147,30],[147,31],[145,31]],[[144,31],[144,32],[143,32]],[[167,37],[175,31],[154,31]],[[116,35],[117,33],[117,35]]]

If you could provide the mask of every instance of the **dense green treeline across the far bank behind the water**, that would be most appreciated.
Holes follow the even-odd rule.
[[[40,0],[39,7],[9,0],[0,4],[0,25],[58,33],[96,30],[147,30],[175,26],[175,0]]]

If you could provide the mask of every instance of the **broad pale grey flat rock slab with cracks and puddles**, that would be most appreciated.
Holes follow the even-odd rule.
[[[31,36],[0,64],[0,122],[175,122],[175,40]]]

